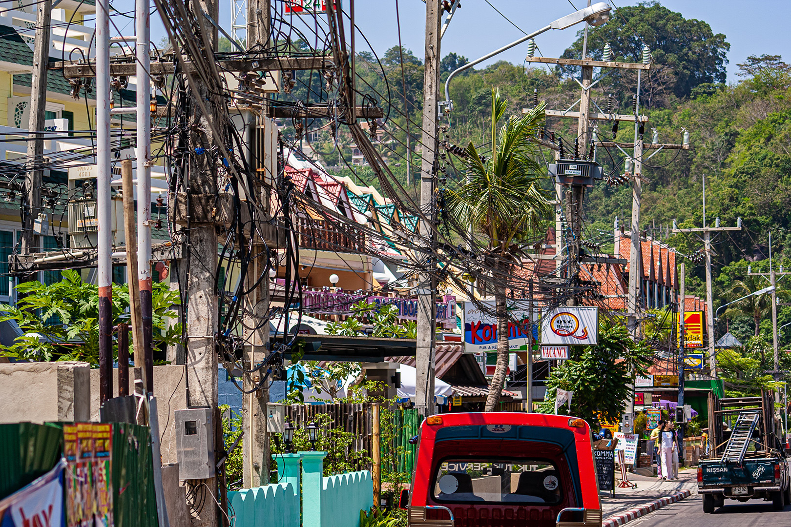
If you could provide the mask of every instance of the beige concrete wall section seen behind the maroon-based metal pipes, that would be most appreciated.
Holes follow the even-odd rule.
[[[118,368],[113,371],[113,396],[118,396]],[[129,393],[134,393],[134,374],[129,369]],[[99,420],[99,370],[91,370],[90,420]],[[175,410],[187,408],[187,395],[184,392],[184,365],[170,364],[153,367],[153,391],[157,397],[159,431],[161,435],[162,465],[176,463]]]

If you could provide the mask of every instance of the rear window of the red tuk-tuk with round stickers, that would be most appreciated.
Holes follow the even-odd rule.
[[[439,503],[533,503],[554,505],[563,498],[558,468],[543,459],[446,459],[432,482]]]

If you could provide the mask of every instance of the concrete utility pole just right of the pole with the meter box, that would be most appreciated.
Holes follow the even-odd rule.
[[[248,49],[259,43],[265,44],[269,40],[269,13],[270,0],[248,0]],[[263,115],[267,115],[268,103],[266,100],[262,102],[262,106]],[[245,112],[244,119],[246,128],[252,126],[256,134],[263,132],[256,126],[255,115],[252,112]],[[251,119],[252,122],[250,122]],[[270,145],[267,141],[255,141],[255,144]],[[267,156],[276,158],[277,152],[255,152],[255,155],[262,158]],[[271,181],[274,181],[274,174],[259,173],[259,175],[264,179],[271,178]],[[269,186],[256,185],[253,192],[259,194],[260,203],[269,203]],[[262,218],[262,220],[265,219]],[[266,246],[254,242],[252,253],[252,262],[250,262],[247,274],[248,284],[246,287],[248,289],[262,274],[267,274]],[[269,315],[269,284],[269,277],[264,277],[250,295],[252,316],[245,317],[247,318],[245,326],[254,329],[252,332],[245,331],[248,344],[245,344],[242,356],[242,364],[248,370],[252,370],[255,364],[260,363],[268,354],[269,323],[261,321],[267,320]],[[260,384],[261,371],[252,374],[252,376],[244,374],[242,388],[245,392],[251,392],[242,395],[242,427],[244,429],[242,486],[244,488],[262,487],[269,484],[270,453],[269,435],[267,434],[269,390],[264,388],[253,391],[255,386]]]

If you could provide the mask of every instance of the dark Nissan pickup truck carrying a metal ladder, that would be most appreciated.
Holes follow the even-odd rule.
[[[763,499],[775,510],[791,503],[789,462],[778,439],[772,393],[728,399],[713,395],[709,413],[713,448],[698,465],[703,512],[714,512],[725,499]]]

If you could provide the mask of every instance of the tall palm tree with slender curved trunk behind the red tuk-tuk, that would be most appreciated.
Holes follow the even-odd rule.
[[[488,242],[494,303],[498,319],[497,366],[491,380],[486,412],[500,401],[508,368],[508,310],[506,283],[511,266],[517,261],[520,243],[540,232],[543,221],[551,215],[548,194],[539,186],[545,171],[536,160],[536,132],[543,125],[541,103],[522,117],[511,117],[498,128],[507,101],[499,90],[492,89],[492,155],[482,162],[470,143],[464,157],[466,183],[448,192],[448,209],[461,224],[471,225]]]

